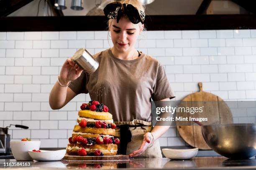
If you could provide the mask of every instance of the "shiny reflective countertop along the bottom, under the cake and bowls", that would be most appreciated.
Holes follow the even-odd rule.
[[[5,166],[7,163],[30,163],[30,166]],[[256,169],[256,160],[230,160],[225,157],[195,157],[192,160],[162,159],[130,159],[130,160],[101,160],[101,161],[16,161],[0,160],[0,168],[16,169],[208,169],[208,170],[245,170]]]

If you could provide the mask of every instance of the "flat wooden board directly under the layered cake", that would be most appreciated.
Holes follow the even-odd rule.
[[[129,160],[129,155],[75,156],[66,154],[62,160]]]

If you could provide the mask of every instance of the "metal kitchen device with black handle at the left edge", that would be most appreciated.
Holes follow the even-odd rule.
[[[0,154],[10,154],[10,135],[8,134],[8,128],[10,128],[12,124],[7,126],[6,128],[0,128]],[[28,129],[27,126],[23,125],[14,125],[16,128]]]

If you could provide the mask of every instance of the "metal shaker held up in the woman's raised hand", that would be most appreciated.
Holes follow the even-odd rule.
[[[97,60],[95,60],[92,55],[84,48],[77,50],[71,60],[79,65],[79,67],[84,69],[84,71],[88,74],[95,72],[95,70],[97,70],[99,67],[99,62],[97,62]]]

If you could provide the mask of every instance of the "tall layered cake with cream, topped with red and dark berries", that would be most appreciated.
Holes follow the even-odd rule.
[[[68,155],[103,156],[116,155],[120,144],[114,138],[116,125],[108,107],[98,101],[83,103],[78,112],[72,137],[67,145]]]

